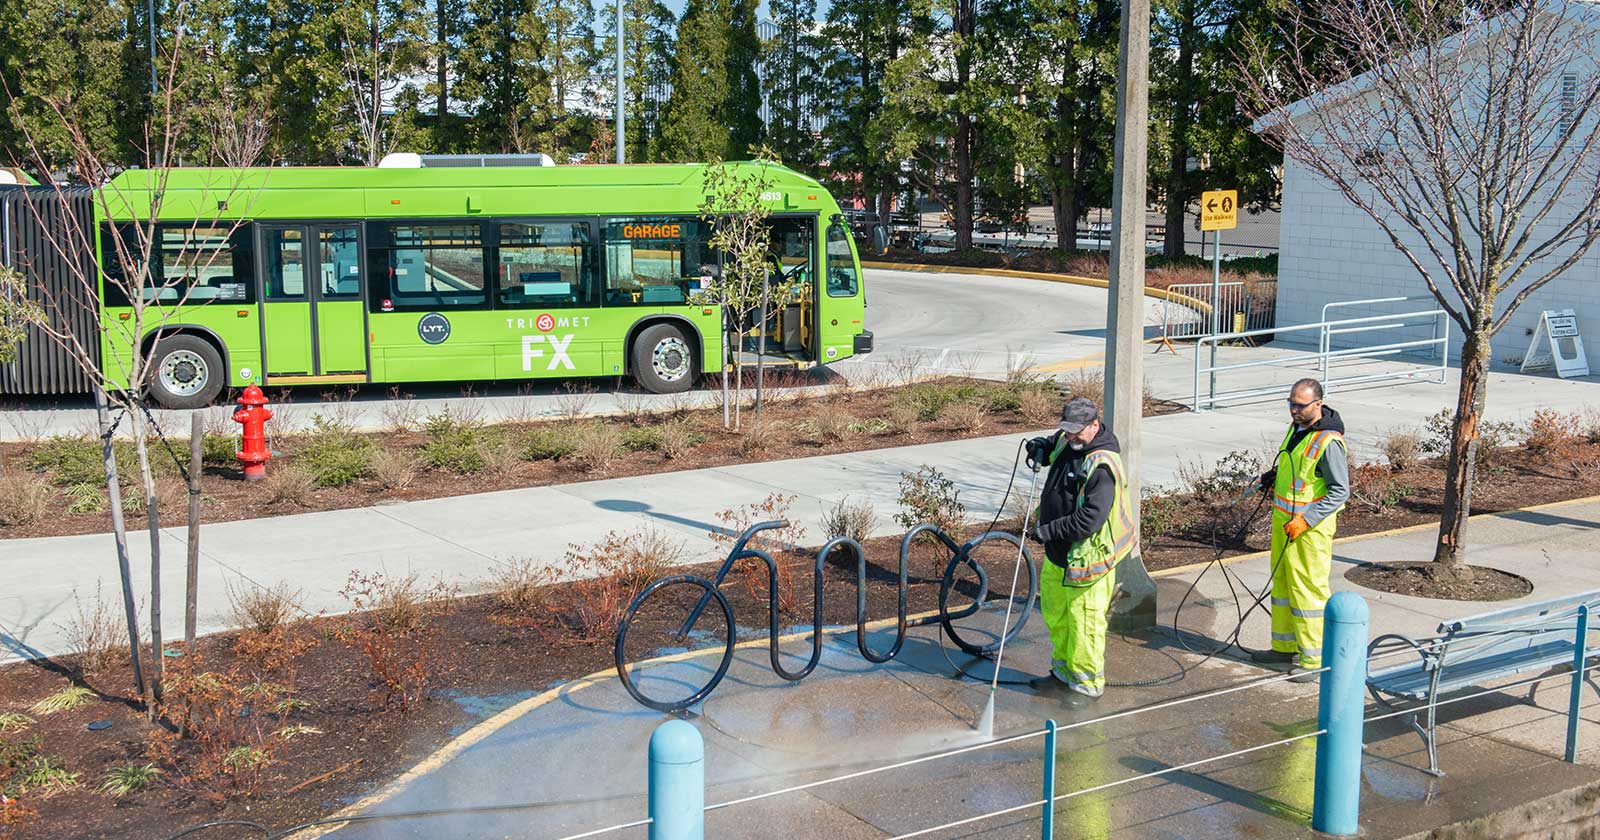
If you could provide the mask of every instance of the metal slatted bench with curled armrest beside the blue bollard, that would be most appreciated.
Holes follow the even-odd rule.
[[[1366,690],[1374,701],[1389,709],[1395,707],[1394,701],[1424,704],[1418,706],[1408,720],[1427,746],[1427,771],[1443,776],[1434,738],[1440,698],[1518,674],[1544,674],[1573,666],[1579,643],[1581,606],[1587,606],[1587,613],[1600,610],[1600,589],[1446,621],[1438,626],[1438,635],[1429,640],[1400,634],[1379,635],[1366,646],[1368,659],[1386,648],[1406,646],[1421,659],[1370,672]],[[1582,624],[1587,630],[1587,619]],[[1582,642],[1587,658],[1594,648],[1587,646],[1587,640]],[[1530,685],[1530,699],[1534,690],[1538,682]],[[1578,696],[1576,690],[1573,696]],[[1424,710],[1426,726],[1418,722],[1418,714]]]

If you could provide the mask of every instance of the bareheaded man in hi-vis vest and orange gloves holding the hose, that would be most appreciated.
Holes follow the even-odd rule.
[[[1251,659],[1290,664],[1291,682],[1309,683],[1322,669],[1322,611],[1333,531],[1350,498],[1350,459],[1344,421],[1323,405],[1322,382],[1294,382],[1288,402],[1277,466],[1261,475],[1261,491],[1272,494],[1272,648]]]

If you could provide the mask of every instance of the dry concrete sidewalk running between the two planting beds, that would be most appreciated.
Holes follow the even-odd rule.
[[[1280,350],[1226,349],[1229,354]],[[1179,362],[1149,357],[1152,382],[1176,376]],[[1158,360],[1157,360],[1158,358]],[[1165,371],[1165,373],[1163,373]],[[1270,373],[1269,373],[1270,374]],[[1283,371],[1278,370],[1277,376]],[[1166,379],[1163,379],[1163,376]],[[1160,392],[1160,390],[1158,390]],[[1445,408],[1454,390],[1408,384],[1330,395],[1349,426],[1357,461],[1379,458],[1379,437],[1419,424]],[[1576,411],[1600,403],[1589,381],[1494,374],[1490,416],[1522,421],[1533,408]],[[1282,400],[1144,422],[1146,488],[1176,486],[1184,464],[1214,462],[1232,450],[1267,450],[1283,434]],[[352,571],[438,576],[470,592],[496,563],[515,557],[560,560],[573,542],[608,531],[654,526],[683,541],[693,562],[717,557],[707,533],[717,512],[758,502],[770,493],[795,496],[792,518],[821,542],[821,520],[850,496],[872,502],[878,533],[893,533],[899,477],[931,464],[957,482],[968,514],[992,515],[1005,493],[1022,435],[928,443],[864,453],[738,464],[659,475],[579,482],[413,502],[222,522],[202,530],[200,632],[229,629],[229,587],[288,581],[310,613],[342,611],[338,592]],[[1026,493],[1019,477],[1014,493]],[[176,525],[176,523],[174,523]],[[163,602],[181,605],[186,531],[163,530]],[[149,592],[149,536],[130,534],[134,592]],[[1418,554],[1426,558],[1426,554]],[[118,597],[109,534],[0,541],[0,661],[66,653],[75,597]],[[165,611],[165,638],[182,629],[182,610]]]

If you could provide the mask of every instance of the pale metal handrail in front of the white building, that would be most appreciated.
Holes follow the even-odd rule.
[[[1395,301],[1400,301],[1400,299],[1403,299],[1403,298],[1395,298]],[[1387,302],[1387,301],[1389,299],[1384,299],[1384,302]],[[1358,304],[1358,302],[1374,302],[1374,301],[1344,301],[1344,302],[1354,306],[1354,304]],[[1334,304],[1338,304],[1338,301]],[[1325,306],[1323,310],[1326,312],[1326,309],[1331,307],[1331,306],[1334,306],[1334,304]],[[1419,323],[1421,318],[1432,318],[1432,328],[1434,328],[1432,338],[1414,339],[1414,341],[1397,341],[1397,342],[1390,342],[1390,344],[1376,344],[1376,346],[1366,346],[1366,347],[1346,347],[1346,349],[1339,349],[1339,350],[1333,350],[1330,347],[1330,338],[1334,336],[1334,334],[1349,334],[1349,333],[1365,333],[1365,331],[1378,331],[1378,330],[1398,330],[1398,328],[1406,328],[1406,326],[1421,326],[1421,323]],[[1203,350],[1205,344],[1211,344],[1211,347],[1214,349],[1218,344],[1221,344],[1224,341],[1235,341],[1235,339],[1245,339],[1245,338],[1254,338],[1254,336],[1266,336],[1266,334],[1277,336],[1277,334],[1282,334],[1282,333],[1304,333],[1304,331],[1310,331],[1310,330],[1317,331],[1317,355],[1310,362],[1315,363],[1315,366],[1322,371],[1322,386],[1323,386],[1323,390],[1330,390],[1330,389],[1338,387],[1338,386],[1350,386],[1350,384],[1358,384],[1358,382],[1376,382],[1376,381],[1382,381],[1382,379],[1418,379],[1421,376],[1421,371],[1390,371],[1390,373],[1374,373],[1374,374],[1362,374],[1362,376],[1333,378],[1333,376],[1330,376],[1330,362],[1334,360],[1334,358],[1346,358],[1346,357],[1398,355],[1398,354],[1403,354],[1406,350],[1421,349],[1421,347],[1432,347],[1432,346],[1438,346],[1440,347],[1440,362],[1438,362],[1438,366],[1437,368],[1430,368],[1426,376],[1429,379],[1432,379],[1435,376],[1435,371],[1437,371],[1437,376],[1438,376],[1437,382],[1443,384],[1446,381],[1448,374],[1450,374],[1450,318],[1448,318],[1448,314],[1443,309],[1429,309],[1429,310],[1419,310],[1419,312],[1397,312],[1397,314],[1392,314],[1392,315],[1366,315],[1366,317],[1360,317],[1360,318],[1322,320],[1322,322],[1317,322],[1317,323],[1301,323],[1301,325],[1294,325],[1294,326],[1269,326],[1269,328],[1261,328],[1261,330],[1242,330],[1242,331],[1237,331],[1237,333],[1219,333],[1219,334],[1214,334],[1214,336],[1200,336],[1195,341],[1195,379],[1194,379],[1195,390],[1194,390],[1194,402],[1192,402],[1190,408],[1194,411],[1203,411],[1202,406],[1213,406],[1213,405],[1216,405],[1218,402],[1222,402],[1222,400],[1237,400],[1237,398],[1248,398],[1248,397],[1261,397],[1261,395],[1267,395],[1267,394],[1277,394],[1278,390],[1282,390],[1282,386],[1270,386],[1270,387],[1240,389],[1240,390],[1230,390],[1230,392],[1218,394],[1218,390],[1216,390],[1216,374],[1219,371],[1243,370],[1243,368],[1264,368],[1264,366],[1304,366],[1304,365],[1307,365],[1307,358],[1306,357],[1291,357],[1291,358],[1259,358],[1259,360],[1253,360],[1253,362],[1235,362],[1232,365],[1216,365],[1216,363],[1213,363],[1210,366],[1203,366],[1200,363],[1200,357],[1202,357],[1202,350]],[[1202,387],[1200,387],[1202,374],[1210,374],[1210,389],[1205,394],[1202,394]]]

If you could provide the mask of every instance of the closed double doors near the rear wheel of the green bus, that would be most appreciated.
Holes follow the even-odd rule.
[[[258,224],[270,382],[365,382],[366,307],[354,224]]]

